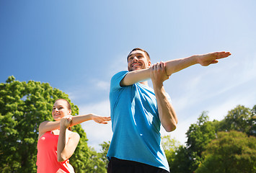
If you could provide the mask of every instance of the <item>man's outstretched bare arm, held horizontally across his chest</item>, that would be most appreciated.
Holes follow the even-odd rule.
[[[207,54],[198,55],[198,56],[190,56],[187,58],[166,61],[165,62],[166,72],[167,72],[167,75],[170,76],[178,71],[181,71],[184,68],[193,66],[197,63],[199,63],[201,66],[208,66],[212,63],[218,63],[219,59],[226,58],[230,55],[231,53],[229,52],[216,52],[216,53],[207,53]],[[129,72],[120,82],[120,85],[128,86],[131,84],[135,84],[139,81],[145,81],[147,79],[150,79],[150,71],[151,71],[150,68]]]

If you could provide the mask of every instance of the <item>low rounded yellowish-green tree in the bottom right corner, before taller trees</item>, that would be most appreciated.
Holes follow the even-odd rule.
[[[234,130],[219,132],[203,157],[196,173],[256,172],[256,138]]]

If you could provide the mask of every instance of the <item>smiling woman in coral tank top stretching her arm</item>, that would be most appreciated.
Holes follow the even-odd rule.
[[[69,158],[79,143],[79,134],[71,132],[72,125],[87,120],[107,124],[110,117],[97,115],[71,116],[71,105],[66,99],[57,99],[53,105],[53,119],[39,126],[37,142],[37,172],[74,172]]]

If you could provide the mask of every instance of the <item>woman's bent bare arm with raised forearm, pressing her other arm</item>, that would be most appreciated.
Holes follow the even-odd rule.
[[[67,133],[67,128],[71,125],[70,117],[63,117],[61,119],[60,133],[58,136],[57,158],[59,162],[69,159],[76,150],[79,143],[79,134],[70,132]]]

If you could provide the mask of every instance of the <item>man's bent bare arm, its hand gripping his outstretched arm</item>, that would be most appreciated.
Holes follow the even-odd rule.
[[[169,76],[166,74],[165,64],[163,62],[156,63],[152,66],[151,79],[156,95],[160,121],[167,132],[173,131],[176,129],[178,120],[175,110],[169,102],[164,90],[163,82],[169,79]]]

